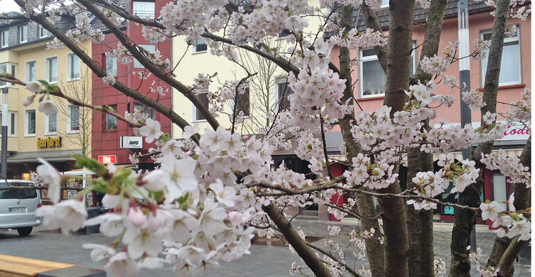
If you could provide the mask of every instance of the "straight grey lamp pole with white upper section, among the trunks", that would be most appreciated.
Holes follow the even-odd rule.
[[[463,91],[470,91],[470,32],[468,30],[468,0],[459,0],[457,2],[457,20],[459,23],[459,84],[461,84],[460,101],[461,102],[461,127],[472,123],[472,112],[468,104],[463,101]],[[472,145],[469,148],[461,149],[463,159],[468,159],[472,152]],[[475,225],[470,232],[470,247],[477,249]]]

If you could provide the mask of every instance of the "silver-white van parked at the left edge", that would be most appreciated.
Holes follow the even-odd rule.
[[[33,186],[32,181],[0,180],[0,188],[6,186]],[[0,190],[0,230],[17,229],[19,235],[29,235],[33,226],[41,224],[35,209],[41,206],[38,190]]]

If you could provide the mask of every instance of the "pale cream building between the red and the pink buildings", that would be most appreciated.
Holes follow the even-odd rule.
[[[311,6],[319,6],[317,0],[309,1]],[[320,26],[318,17],[308,17],[308,29],[310,34],[317,35],[317,28]],[[316,28],[315,32],[313,29]],[[221,34],[217,34],[221,35]],[[278,47],[286,50],[286,41],[283,37],[287,35],[281,32],[279,37],[272,37],[265,41],[271,47]],[[321,33],[319,39],[322,39]],[[222,86],[222,82],[227,80],[240,80],[247,76],[245,70],[227,59],[227,57],[216,56],[211,54],[211,49],[206,45],[204,39],[199,39],[193,45],[188,46],[184,36],[173,37],[172,40],[172,58],[173,65],[180,62],[176,71],[176,78],[186,85],[192,85],[193,80],[199,73],[212,75],[217,73],[210,87],[198,89],[199,99],[208,107],[208,91],[216,91],[217,87]],[[256,134],[258,127],[265,125],[267,111],[278,111],[279,109],[288,108],[289,102],[286,99],[290,88],[287,86],[286,79],[288,73],[281,70],[278,66],[268,60],[246,51],[238,51],[240,62],[244,64],[251,73],[258,72],[258,75],[250,78],[244,87],[248,87],[245,96],[240,96],[238,100],[238,110],[245,112],[244,124],[240,126],[238,132],[242,134]],[[248,94],[248,95],[247,95]],[[286,96],[286,97],[283,97]],[[224,113],[221,113],[216,119],[224,127],[231,127],[231,120],[227,114],[232,114],[234,101],[229,100],[224,106]],[[205,127],[210,127],[206,120],[202,118],[192,103],[179,91],[173,91],[173,109],[184,118],[188,123],[198,123],[203,132]],[[247,116],[249,115],[249,116]],[[172,137],[178,138],[182,130],[177,125],[173,125]]]

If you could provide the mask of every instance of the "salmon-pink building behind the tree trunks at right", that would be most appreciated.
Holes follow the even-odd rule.
[[[445,10],[445,19],[441,42],[439,46],[439,55],[441,49],[445,48],[449,42],[458,40],[457,29],[457,8],[456,1],[447,1]],[[470,26],[470,43],[475,39],[490,39],[491,29],[493,27],[493,17],[491,8],[484,2],[472,3],[469,5],[469,26]],[[388,32],[388,8],[377,12],[381,26]],[[359,19],[360,18],[360,19]],[[418,46],[422,44],[425,35],[425,18],[427,11],[424,9],[415,10],[415,26],[413,28],[413,44]],[[520,100],[520,94],[531,87],[531,17],[526,21],[520,19],[508,19],[508,25],[515,24],[517,33],[514,37],[506,38],[504,41],[504,51],[502,54],[502,69],[500,72],[500,87],[498,89],[497,100],[499,102],[516,102]],[[363,17],[356,17],[356,26],[359,30],[365,29]],[[413,51],[413,64],[411,72],[414,72],[417,62],[420,60],[421,48]],[[352,58],[358,57],[359,64],[355,66],[352,73],[352,79],[358,80],[354,88],[354,96],[359,105],[367,111],[375,111],[383,105],[384,102],[384,85],[385,73],[379,65],[375,51],[372,48],[364,48],[351,52]],[[339,48],[334,48],[331,59],[334,64],[338,64]],[[484,86],[484,69],[486,68],[486,59],[470,60],[470,87],[472,89],[482,88]],[[459,64],[452,64],[445,75],[452,75],[459,78]],[[439,107],[438,116],[431,120],[431,124],[438,123],[439,119],[447,120],[452,124],[460,124],[460,96],[459,89],[450,89],[445,84],[438,84],[436,93],[450,94],[456,98],[452,107]],[[497,111],[504,112],[509,109],[509,105],[498,104]],[[358,112],[358,111],[357,111]],[[472,125],[479,125],[481,114],[479,111],[472,111]],[[500,120],[498,118],[498,120]],[[332,130],[328,134],[327,150],[335,157],[339,155],[338,146],[341,143],[339,129]],[[530,134],[530,129],[522,125],[511,126],[505,132],[504,139],[495,142],[495,150],[504,149],[510,155],[520,155]],[[461,159],[461,152],[457,155]],[[345,157],[343,157],[345,158]],[[341,167],[341,165],[338,165]],[[484,199],[495,199],[497,201],[506,200],[510,195],[510,184],[506,178],[499,172],[487,170],[485,172],[486,181],[484,187]],[[443,200],[453,198],[453,195],[445,195]],[[443,208],[441,211],[443,220],[453,219],[453,209],[450,207]]]

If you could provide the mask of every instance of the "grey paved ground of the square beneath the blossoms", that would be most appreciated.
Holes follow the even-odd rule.
[[[323,246],[327,240],[333,240],[335,243],[340,243],[340,247],[347,245],[347,236],[337,235],[331,237],[327,231],[328,225],[337,224],[340,226],[343,233],[349,233],[355,224],[339,223],[339,222],[318,222],[318,221],[302,221],[294,220],[294,226],[300,226],[301,229],[310,237],[318,237],[320,240],[313,242],[317,246]],[[477,246],[483,250],[484,259],[487,260],[488,255],[492,249],[495,233],[491,231],[477,232]],[[83,243],[99,243],[108,244],[112,242],[112,238],[106,238],[100,233],[96,234],[70,234],[63,235],[61,233],[54,233],[51,231],[42,231],[41,228],[35,229],[31,235],[26,238],[20,238],[16,231],[1,231],[0,232],[0,253],[20,256],[26,258],[35,258],[40,260],[51,260],[55,262],[67,262],[82,267],[92,267],[103,269],[106,265],[105,261],[94,262],[90,259],[88,249],[83,249]],[[450,262],[450,241],[451,229],[447,226],[438,226],[434,231],[434,253],[436,258],[442,258],[449,268]],[[352,256],[352,255],[348,255]],[[251,254],[243,256],[240,260],[233,262],[222,262],[220,266],[214,269],[208,269],[204,276],[219,277],[219,276],[290,276],[288,270],[292,262],[297,262],[297,265],[304,265],[299,260],[297,254],[292,254],[288,251],[288,247],[280,246],[266,246],[266,245],[252,245]],[[348,260],[348,265],[364,265],[361,261]],[[529,260],[520,260],[515,263],[514,276],[530,276]],[[310,269],[304,265],[304,273],[312,276]],[[172,271],[172,268],[157,269],[152,271],[140,272],[141,277],[156,277],[156,276],[177,276],[178,274]],[[477,275],[475,266],[472,265],[472,276]]]

